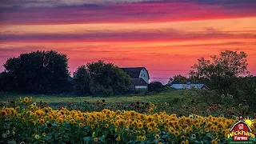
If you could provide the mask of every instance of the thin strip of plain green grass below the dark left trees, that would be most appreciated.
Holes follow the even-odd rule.
[[[130,102],[170,102],[174,98],[183,98],[183,90],[171,90],[168,92],[162,92],[159,94],[153,94],[153,95],[138,95],[138,96],[113,96],[109,98],[103,98],[103,97],[76,97],[75,95],[43,95],[43,94],[10,94],[10,93],[2,93],[0,94],[0,102],[6,103],[10,99],[18,100],[20,97],[33,97],[35,102],[46,102],[47,104],[58,104],[58,103],[66,103],[66,102],[72,102],[72,103],[80,103],[80,102],[96,102],[100,101],[102,99],[105,99],[107,103],[109,104],[127,104]]]

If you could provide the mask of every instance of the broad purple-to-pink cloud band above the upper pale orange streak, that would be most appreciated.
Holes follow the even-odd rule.
[[[230,3],[230,6],[197,2],[156,2],[106,6],[15,8],[1,10],[0,25],[149,23],[244,18],[256,16],[255,7],[256,2]]]

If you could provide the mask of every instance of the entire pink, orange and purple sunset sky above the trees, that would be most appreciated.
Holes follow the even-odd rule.
[[[256,1],[2,0],[0,64],[33,50],[67,54],[72,73],[101,59],[163,83],[198,58],[245,51],[256,75]]]

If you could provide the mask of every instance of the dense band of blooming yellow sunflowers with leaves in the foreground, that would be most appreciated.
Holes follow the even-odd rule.
[[[177,116],[155,112],[102,109],[58,110],[39,106],[33,98],[2,106],[0,143],[226,143],[238,118],[208,115]],[[256,134],[256,119],[247,119]]]

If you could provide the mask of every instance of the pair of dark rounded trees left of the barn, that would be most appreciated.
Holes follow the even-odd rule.
[[[18,93],[79,95],[124,94],[130,76],[113,63],[89,62],[79,66],[70,77],[66,54],[57,51],[34,51],[8,58],[0,74],[0,90]]]

